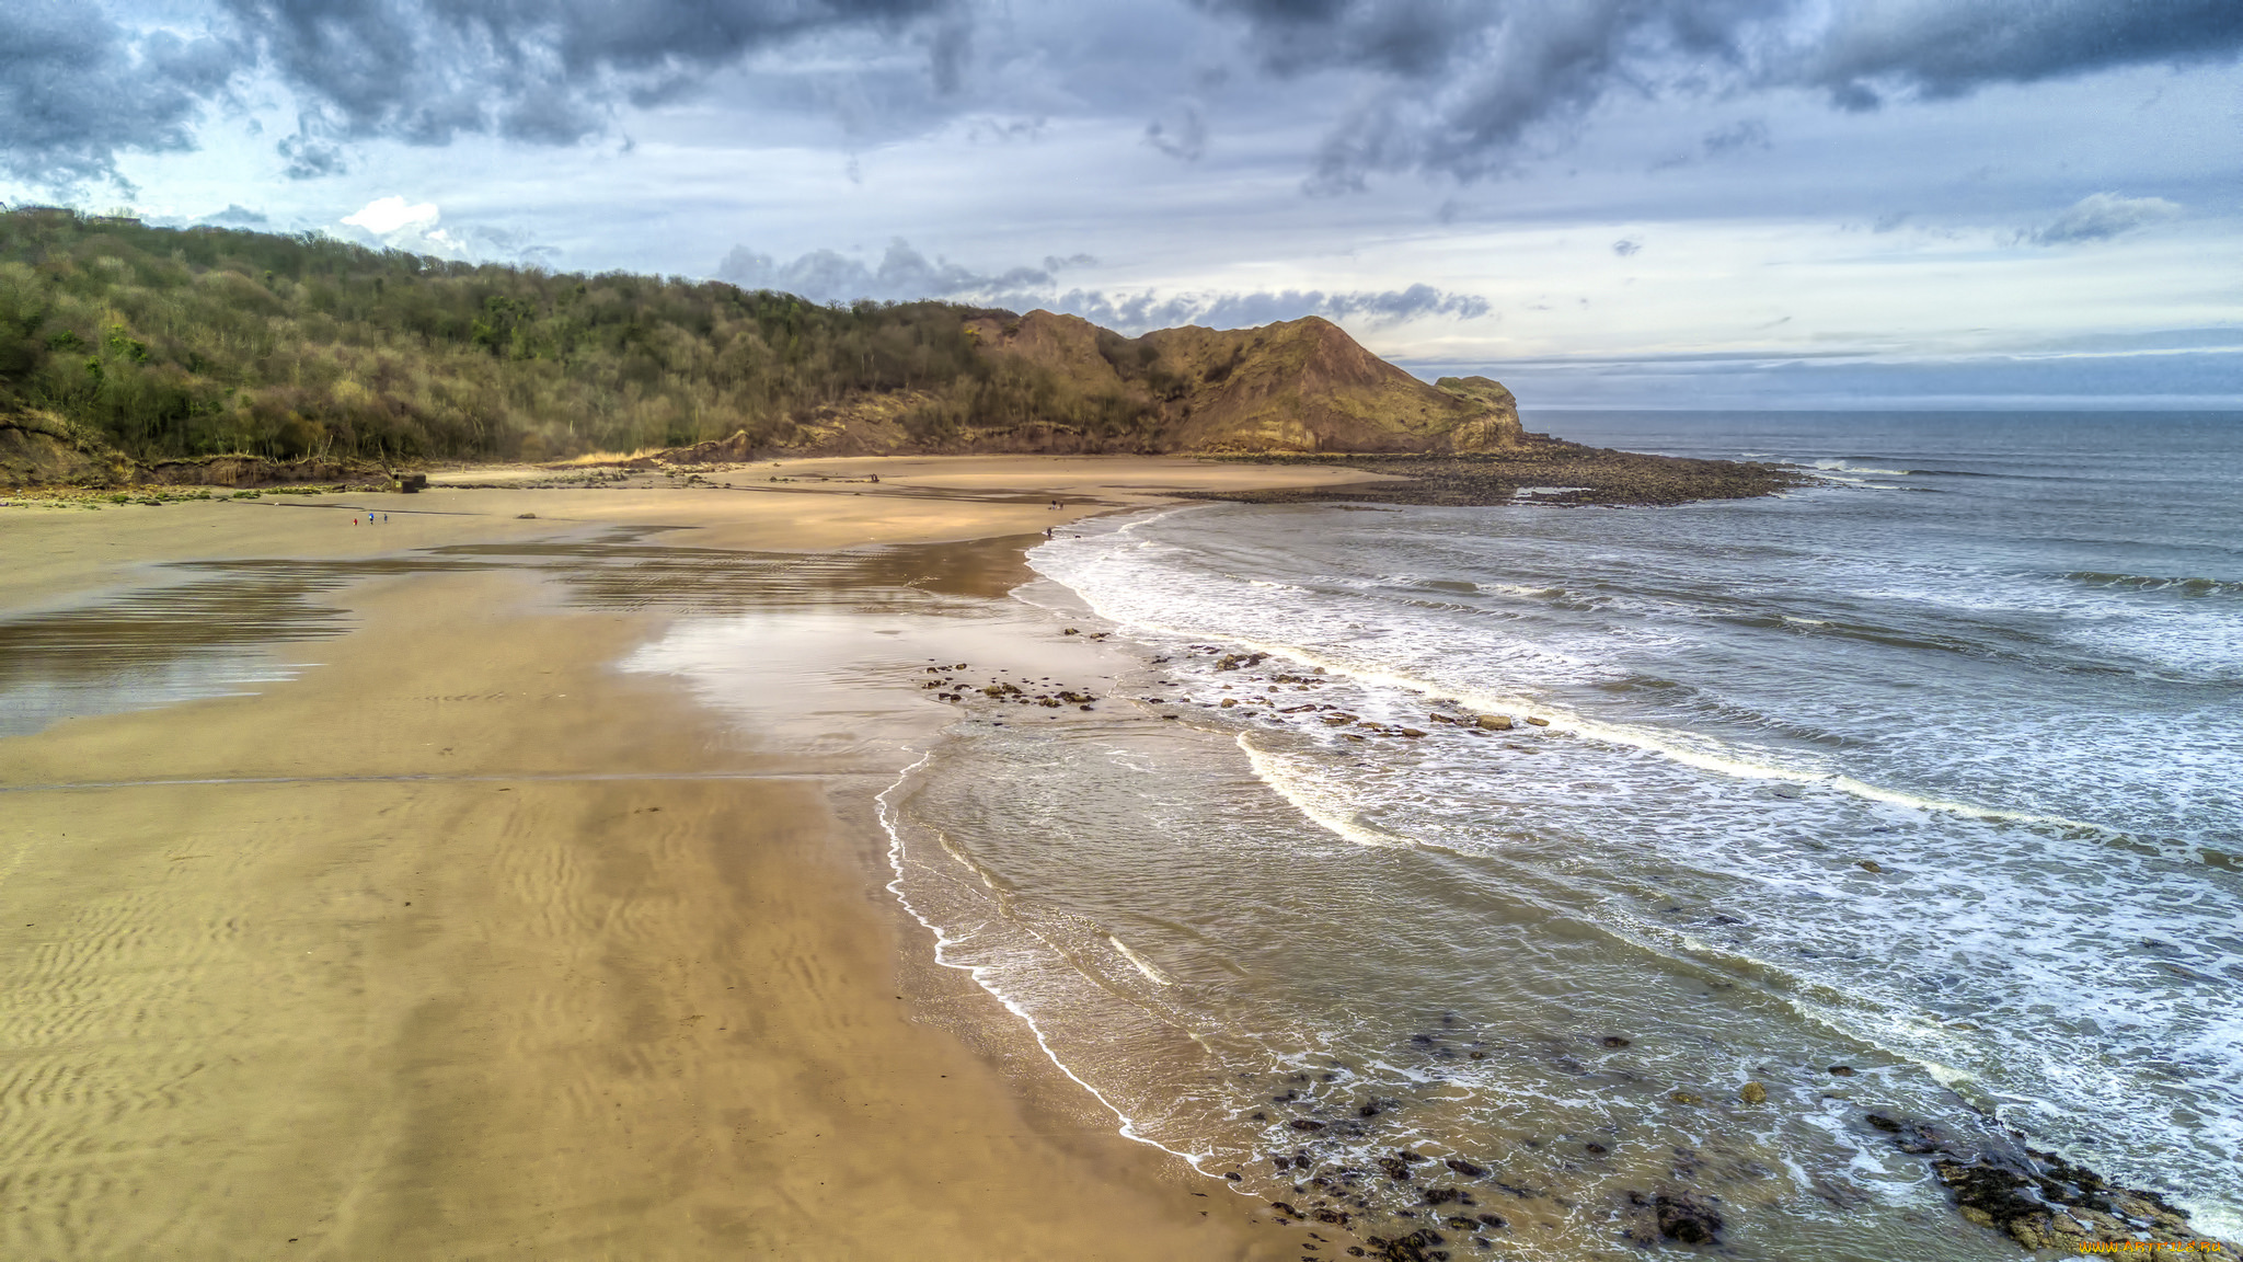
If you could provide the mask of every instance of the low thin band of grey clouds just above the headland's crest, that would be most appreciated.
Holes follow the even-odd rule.
[[[1243,328],[1308,314],[1370,326],[1420,317],[1480,319],[1489,314],[1487,299],[1451,294],[1433,285],[1339,292],[1209,290],[1189,294],[1160,294],[1155,290],[1059,290],[1054,272],[1095,263],[1095,258],[1077,254],[1072,258],[1045,258],[1043,267],[976,272],[947,258],[926,258],[911,243],[893,240],[877,265],[832,249],[814,249],[781,263],[769,254],[758,254],[742,245],[724,256],[716,274],[720,281],[731,281],[742,290],[781,290],[816,303],[944,299],[1007,310],[1045,308],[1079,314],[1122,332],[1144,332],[1180,323]]]

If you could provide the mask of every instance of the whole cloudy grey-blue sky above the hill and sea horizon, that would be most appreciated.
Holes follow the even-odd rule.
[[[1523,409],[2243,409],[2236,0],[9,0],[0,200]]]

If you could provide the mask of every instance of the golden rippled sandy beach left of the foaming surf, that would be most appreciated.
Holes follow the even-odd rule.
[[[18,629],[278,566],[341,615],[269,649],[287,678],[0,739],[0,1253],[1292,1255],[1296,1228],[1113,1134],[1032,1046],[960,1037],[1005,1015],[931,966],[873,817],[947,719],[861,667],[949,631],[848,588],[994,597],[1018,548],[971,541],[1357,474],[785,472],[832,481],[0,510]],[[617,669],[711,600],[635,564],[864,546],[917,548],[805,561],[837,631],[772,642],[760,719]]]

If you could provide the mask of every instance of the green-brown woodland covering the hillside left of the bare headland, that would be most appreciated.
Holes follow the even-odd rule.
[[[1142,402],[978,353],[964,321],[980,314],[1009,317],[0,213],[0,411],[61,415],[139,458],[543,460],[736,431],[783,445],[868,397],[929,445],[1061,422],[1128,449],[1144,431]]]

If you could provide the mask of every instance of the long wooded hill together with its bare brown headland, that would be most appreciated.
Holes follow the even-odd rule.
[[[1050,312],[0,213],[0,415],[56,460],[43,433],[141,463],[1516,442],[1510,393],[1469,382],[1429,386],[1321,319],[1124,337]]]

